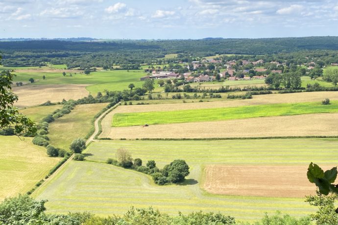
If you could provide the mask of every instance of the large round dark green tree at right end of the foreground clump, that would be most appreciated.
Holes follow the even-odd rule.
[[[175,159],[169,164],[168,180],[172,183],[177,183],[183,181],[189,173],[189,166],[186,161]]]

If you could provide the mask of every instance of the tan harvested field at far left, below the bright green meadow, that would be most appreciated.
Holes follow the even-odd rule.
[[[19,96],[18,108],[36,106],[47,102],[61,102],[62,99],[77,100],[88,96],[87,85],[25,85],[13,88]]]

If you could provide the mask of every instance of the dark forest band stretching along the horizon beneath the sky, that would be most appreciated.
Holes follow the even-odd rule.
[[[329,50],[338,50],[338,37],[0,42],[3,65],[10,67],[44,66],[46,63],[67,64],[70,68],[143,64],[171,53],[181,53],[176,60],[187,62],[187,58],[191,56],[205,57],[217,54],[272,56],[288,53],[290,57],[290,53],[311,51],[311,54],[323,55],[329,54],[323,53]],[[316,52],[313,53],[314,51]],[[302,57],[305,58],[305,55]]]

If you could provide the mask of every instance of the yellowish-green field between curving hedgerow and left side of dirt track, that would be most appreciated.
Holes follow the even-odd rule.
[[[77,105],[70,114],[66,114],[49,124],[49,144],[68,150],[72,140],[85,137],[92,129],[94,116],[107,103]]]

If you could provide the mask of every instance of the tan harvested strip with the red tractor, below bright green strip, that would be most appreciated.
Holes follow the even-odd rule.
[[[111,127],[105,119],[100,137],[222,138],[271,136],[337,136],[338,113],[271,116],[212,122],[158,124],[149,127]]]

